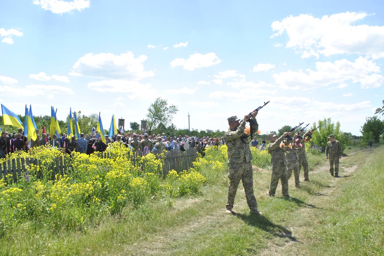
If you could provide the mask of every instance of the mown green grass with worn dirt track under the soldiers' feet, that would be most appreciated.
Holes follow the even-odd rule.
[[[1,240],[1,255],[382,255],[384,147],[346,150],[339,175],[308,155],[310,182],[268,196],[269,170],[254,172],[262,216],[249,215],[240,183],[237,215],[227,215],[226,173],[208,173],[201,194],[108,215],[81,232],[25,223]],[[303,173],[301,173],[301,181]],[[34,227],[34,228],[32,228]]]

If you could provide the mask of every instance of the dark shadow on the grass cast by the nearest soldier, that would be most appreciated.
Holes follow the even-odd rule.
[[[297,241],[296,238],[292,236],[292,232],[281,225],[272,223],[263,215],[247,215],[237,213],[236,216],[242,219],[248,225],[260,228],[274,236],[278,236],[280,238],[289,238],[293,242]]]

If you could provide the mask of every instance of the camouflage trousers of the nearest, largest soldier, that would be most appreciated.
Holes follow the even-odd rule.
[[[257,202],[255,195],[253,194],[253,170],[251,162],[230,163],[228,178],[229,188],[227,209],[233,208],[233,202],[235,201],[237,188],[241,180],[243,182],[245,198],[247,199],[249,209],[257,211]]]

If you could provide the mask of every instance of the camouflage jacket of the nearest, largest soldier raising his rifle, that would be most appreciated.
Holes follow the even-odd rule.
[[[228,163],[243,163],[252,160],[252,153],[249,144],[243,143],[241,137],[244,134],[246,122],[241,122],[235,131],[228,129],[224,135],[228,147]],[[257,131],[259,125],[255,119],[253,130]]]

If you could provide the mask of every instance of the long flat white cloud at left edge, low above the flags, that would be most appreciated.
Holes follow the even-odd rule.
[[[23,95],[28,96],[40,96],[40,95],[70,95],[74,94],[74,91],[71,88],[59,85],[26,85],[24,87],[14,87],[14,86],[0,86],[0,91],[3,94],[14,95],[15,90],[19,90],[23,92]]]

